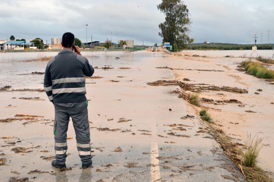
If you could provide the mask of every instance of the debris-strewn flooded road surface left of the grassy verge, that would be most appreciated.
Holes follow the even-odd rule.
[[[37,53],[6,53],[0,55],[0,84],[12,87],[0,92],[0,119],[20,118],[16,114],[43,117],[0,122],[0,158],[5,158],[5,165],[0,166],[3,181],[11,177],[27,177],[29,181],[243,181],[218,143],[202,132],[204,126],[195,110],[177,94],[170,93],[179,87],[146,84],[175,79],[175,72],[156,67],[175,66],[181,58],[148,51],[82,54],[93,67],[99,67],[94,76],[103,77],[86,79],[93,168],[80,168],[72,122],[66,161],[71,169],[60,171],[51,167],[52,103],[44,92],[11,91],[43,89],[44,75],[31,73],[44,72],[47,61],[24,62],[37,58]],[[100,69],[105,65],[113,69]],[[194,118],[186,117],[187,114]],[[26,150],[19,148],[21,152],[16,153],[16,147]]]

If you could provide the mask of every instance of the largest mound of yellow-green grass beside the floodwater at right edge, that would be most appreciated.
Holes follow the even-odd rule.
[[[263,79],[274,79],[274,70],[268,70],[262,63],[243,61],[244,71]]]

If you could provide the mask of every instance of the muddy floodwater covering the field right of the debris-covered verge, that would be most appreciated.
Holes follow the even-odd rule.
[[[228,51],[227,51],[228,52]],[[243,54],[248,51],[230,51],[231,54]],[[222,91],[205,91],[200,93],[200,98],[213,99],[215,102],[202,102],[205,107],[210,107],[209,113],[213,120],[219,124],[228,136],[235,138],[234,141],[245,144],[247,135],[252,137],[264,137],[263,144],[270,144],[263,147],[259,153],[259,166],[264,170],[274,172],[274,85],[264,79],[245,74],[237,69],[238,63],[246,61],[247,58],[224,58],[222,51],[197,51],[193,54],[201,54],[208,57],[178,57],[170,56],[177,62],[163,64],[171,68],[191,68],[221,70],[223,72],[172,70],[177,80],[188,78],[188,83],[204,83],[215,86],[230,86],[247,89],[248,93],[239,94]],[[204,53],[204,54],[203,54]],[[208,54],[206,54],[208,53]],[[257,51],[263,57],[272,55],[273,50]],[[216,55],[216,57],[212,57]],[[180,61],[179,61],[180,60]],[[241,103],[224,103],[222,100],[236,99]],[[218,101],[218,102],[216,102]],[[248,111],[248,112],[247,112]]]

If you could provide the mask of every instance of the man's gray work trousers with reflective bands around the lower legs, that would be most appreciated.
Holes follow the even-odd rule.
[[[72,107],[73,106],[73,107]],[[77,149],[83,164],[91,161],[90,153],[90,124],[87,112],[87,101],[73,103],[70,107],[54,103],[54,150],[55,159],[58,164],[65,164],[67,157],[67,131],[69,117],[72,118],[73,127],[76,134]]]

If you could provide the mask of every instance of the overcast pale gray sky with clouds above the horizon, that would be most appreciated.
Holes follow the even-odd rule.
[[[0,0],[0,40],[14,35],[27,41],[51,38],[65,32],[86,42],[111,39],[133,39],[135,45],[161,44],[158,35],[163,13],[156,5],[161,0]],[[185,0],[191,13],[190,37],[204,41],[247,44],[274,43],[273,0]],[[116,36],[116,34],[118,36]]]

